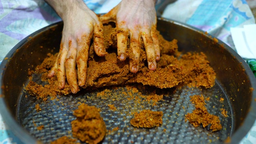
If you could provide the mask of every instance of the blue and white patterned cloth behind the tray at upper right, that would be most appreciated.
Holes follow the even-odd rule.
[[[255,24],[246,0],[178,0],[167,6],[162,17],[207,31],[234,50],[230,28]]]

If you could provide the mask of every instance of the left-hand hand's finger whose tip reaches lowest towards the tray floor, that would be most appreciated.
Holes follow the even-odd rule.
[[[68,55],[65,61],[66,76],[70,90],[73,94],[78,92],[77,76],[76,76],[76,42],[69,41]]]

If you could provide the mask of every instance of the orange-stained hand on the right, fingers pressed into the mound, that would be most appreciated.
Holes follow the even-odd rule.
[[[102,23],[116,22],[117,52],[120,60],[126,59],[128,37],[130,37],[130,71],[138,72],[140,38],[146,50],[148,68],[156,69],[160,59],[158,36],[156,34],[156,0],[122,0],[110,12],[100,17]]]

